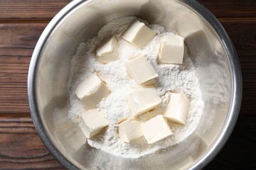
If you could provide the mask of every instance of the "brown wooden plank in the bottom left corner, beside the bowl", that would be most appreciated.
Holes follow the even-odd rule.
[[[0,117],[0,169],[63,169],[41,142],[31,118]]]

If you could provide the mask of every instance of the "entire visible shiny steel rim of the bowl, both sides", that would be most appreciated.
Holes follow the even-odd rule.
[[[230,100],[230,113],[228,114],[228,118],[225,121],[225,125],[223,129],[220,131],[218,137],[215,139],[213,144],[208,149],[208,151],[204,153],[201,156],[201,158],[199,158],[198,161],[195,162],[195,164],[193,164],[193,166],[189,168],[203,169],[203,167],[206,166],[218,154],[218,152],[220,152],[220,149],[222,149],[225,143],[228,141],[228,138],[230,137],[231,132],[235,127],[235,123],[238,119],[240,105],[242,101],[242,74],[238,60],[238,55],[235,51],[233,42],[230,40],[228,34],[226,33],[225,29],[218,21],[218,19],[215,18],[215,16],[213,16],[213,13],[211,13],[205,6],[203,6],[196,0],[180,1],[184,4],[187,4],[199,15],[201,15],[210,24],[213,30],[215,30],[215,33],[217,33],[218,37],[220,38],[220,41],[225,46],[225,50],[230,60],[229,62],[231,72],[233,73],[233,96]],[[67,6],[65,6],[56,14],[56,16],[50,21],[50,23],[48,23],[48,26],[46,26],[45,30],[43,30],[43,33],[41,34],[40,38],[38,39],[38,42],[36,43],[36,47],[33,51],[33,55],[31,57],[31,62],[28,69],[28,104],[31,112],[31,118],[35,125],[36,131],[38,132],[39,137],[41,137],[43,144],[47,147],[49,152],[53,154],[55,159],[57,159],[58,162],[60,162],[60,164],[65,166],[65,168],[67,169],[78,169],[78,167],[71,163],[67,158],[63,156],[63,154],[60,153],[60,151],[58,151],[57,147],[55,147],[55,145],[53,145],[53,142],[50,140],[50,137],[48,137],[48,132],[46,131],[46,128],[44,128],[43,126],[36,100],[36,68],[38,66],[38,60],[41,55],[41,50],[43,49],[42,47],[45,45],[46,40],[53,32],[55,27],[58,26],[58,23],[60,23],[60,21],[62,21],[62,19],[66,15],[68,15],[68,13],[72,11],[74,8],[80,6],[80,4],[87,2],[87,0],[71,1]]]

